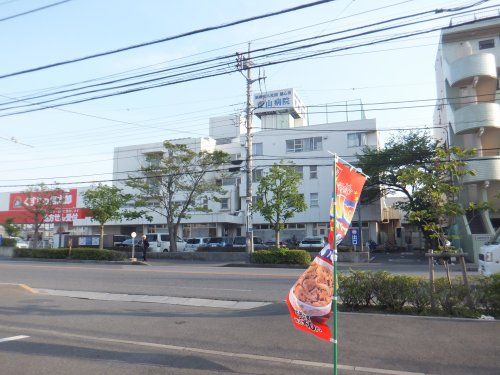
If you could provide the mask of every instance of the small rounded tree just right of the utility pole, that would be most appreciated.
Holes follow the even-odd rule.
[[[300,173],[293,164],[274,164],[259,181],[255,210],[274,229],[276,246],[279,247],[280,231],[296,212],[307,208],[304,196],[299,193]]]

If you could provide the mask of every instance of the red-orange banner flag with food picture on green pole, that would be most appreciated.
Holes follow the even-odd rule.
[[[286,297],[295,328],[327,341],[332,341],[327,321],[332,314],[333,262],[336,261],[333,250],[336,246],[333,241],[338,245],[349,230],[366,181],[365,175],[341,162],[336,163],[335,173],[335,201],[332,197],[328,244],[297,279]]]

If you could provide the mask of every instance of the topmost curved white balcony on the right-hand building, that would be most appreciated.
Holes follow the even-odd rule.
[[[450,64],[448,79],[452,87],[470,85],[474,77],[497,78],[495,55],[477,53],[462,57]]]

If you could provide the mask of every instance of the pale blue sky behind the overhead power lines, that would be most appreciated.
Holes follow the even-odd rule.
[[[57,0],[0,0],[0,76],[191,30],[290,8],[312,0],[72,0],[23,16]],[[24,105],[34,93],[90,79],[140,74],[221,55],[338,32],[389,18],[474,0],[337,0],[229,28],[0,79],[0,116]],[[496,5],[488,1],[478,7]],[[442,16],[439,14],[437,16]],[[424,20],[434,15],[424,15]],[[445,27],[453,15],[382,34],[313,47],[352,46],[402,32]],[[456,19],[457,16],[455,16]],[[467,16],[470,17],[470,16]],[[408,20],[399,22],[408,24]],[[354,32],[351,32],[351,34]],[[317,39],[324,40],[324,39]],[[254,91],[297,89],[311,107],[310,124],[367,118],[384,129],[382,140],[401,131],[432,126],[436,98],[434,61],[439,31],[407,39],[268,66]],[[301,56],[307,51],[276,59]],[[234,64],[227,60],[227,69]],[[253,73],[254,76],[259,72]],[[110,78],[108,78],[110,79]],[[74,86],[65,86],[66,89]],[[127,95],[0,117],[0,191],[58,182],[64,187],[111,178],[114,147],[208,135],[208,119],[243,112],[246,82],[240,72]],[[30,99],[33,101],[33,99]],[[419,102],[416,102],[419,100]],[[425,100],[425,101],[421,101]],[[387,103],[409,101],[408,103]],[[348,113],[343,112],[348,103]],[[2,105],[2,103],[4,103]],[[329,103],[328,107],[322,105]],[[386,103],[386,104],[373,104]],[[388,109],[394,107],[412,107]],[[335,107],[340,106],[340,107]],[[375,110],[383,108],[383,110]],[[21,108],[23,109],[23,108]],[[331,113],[326,113],[327,111]],[[315,113],[312,113],[315,112]],[[328,116],[328,117],[327,117]],[[258,125],[258,122],[257,122]]]

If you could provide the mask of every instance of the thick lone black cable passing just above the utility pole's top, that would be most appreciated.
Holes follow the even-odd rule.
[[[69,0],[64,0],[64,1],[69,1]],[[48,64],[48,65],[38,66],[38,67],[35,67],[35,68],[30,68],[30,69],[25,69],[25,70],[13,72],[13,73],[8,73],[8,74],[0,75],[0,79],[7,78],[7,77],[18,76],[18,75],[26,74],[26,73],[32,73],[32,72],[36,72],[36,71],[40,71],[40,70],[45,70],[45,69],[49,69],[49,68],[54,68],[56,66],[72,64],[72,63],[79,62],[79,61],[95,59],[97,57],[108,56],[108,55],[112,55],[112,54],[116,54],[116,53],[120,53],[120,52],[124,52],[124,51],[129,51],[129,50],[132,50],[132,49],[137,49],[137,48],[141,48],[141,47],[151,46],[151,45],[158,44],[158,43],[164,43],[164,42],[168,42],[168,41],[171,41],[171,40],[184,38],[184,37],[191,36],[191,35],[206,33],[208,31],[220,30],[220,29],[231,27],[231,26],[235,26],[235,25],[240,25],[240,24],[243,24],[243,23],[251,22],[251,21],[256,21],[256,20],[260,20],[260,19],[264,19],[264,18],[269,18],[269,17],[274,17],[274,16],[278,16],[278,15],[281,15],[281,14],[295,12],[295,11],[298,11],[298,10],[301,10],[301,9],[306,9],[306,8],[314,7],[314,6],[317,6],[317,5],[322,5],[322,4],[330,3],[332,1],[336,1],[336,0],[314,1],[312,3],[306,3],[306,4],[298,5],[298,6],[295,6],[295,7],[282,9],[282,10],[279,10],[279,11],[276,11],[276,12],[265,13],[265,14],[262,14],[260,16],[248,17],[248,18],[244,18],[244,19],[240,19],[240,20],[236,20],[236,21],[232,21],[232,22],[228,22],[228,23],[223,23],[223,24],[220,24],[220,25],[217,25],[217,26],[205,27],[205,28],[202,28],[202,29],[196,29],[196,30],[188,31],[188,32],[185,32],[185,33],[177,34],[177,35],[174,35],[174,36],[169,36],[169,37],[166,37],[166,38],[152,40],[152,41],[149,41],[149,42],[143,42],[143,43],[139,43],[139,44],[130,45],[130,46],[127,46],[127,47],[117,48],[117,49],[106,51],[106,52],[100,52],[100,53],[96,53],[96,54],[92,54],[92,55],[88,55],[88,56],[83,56],[83,57],[79,57],[79,58],[75,58],[75,59],[71,59],[71,60],[60,61],[60,62]]]

